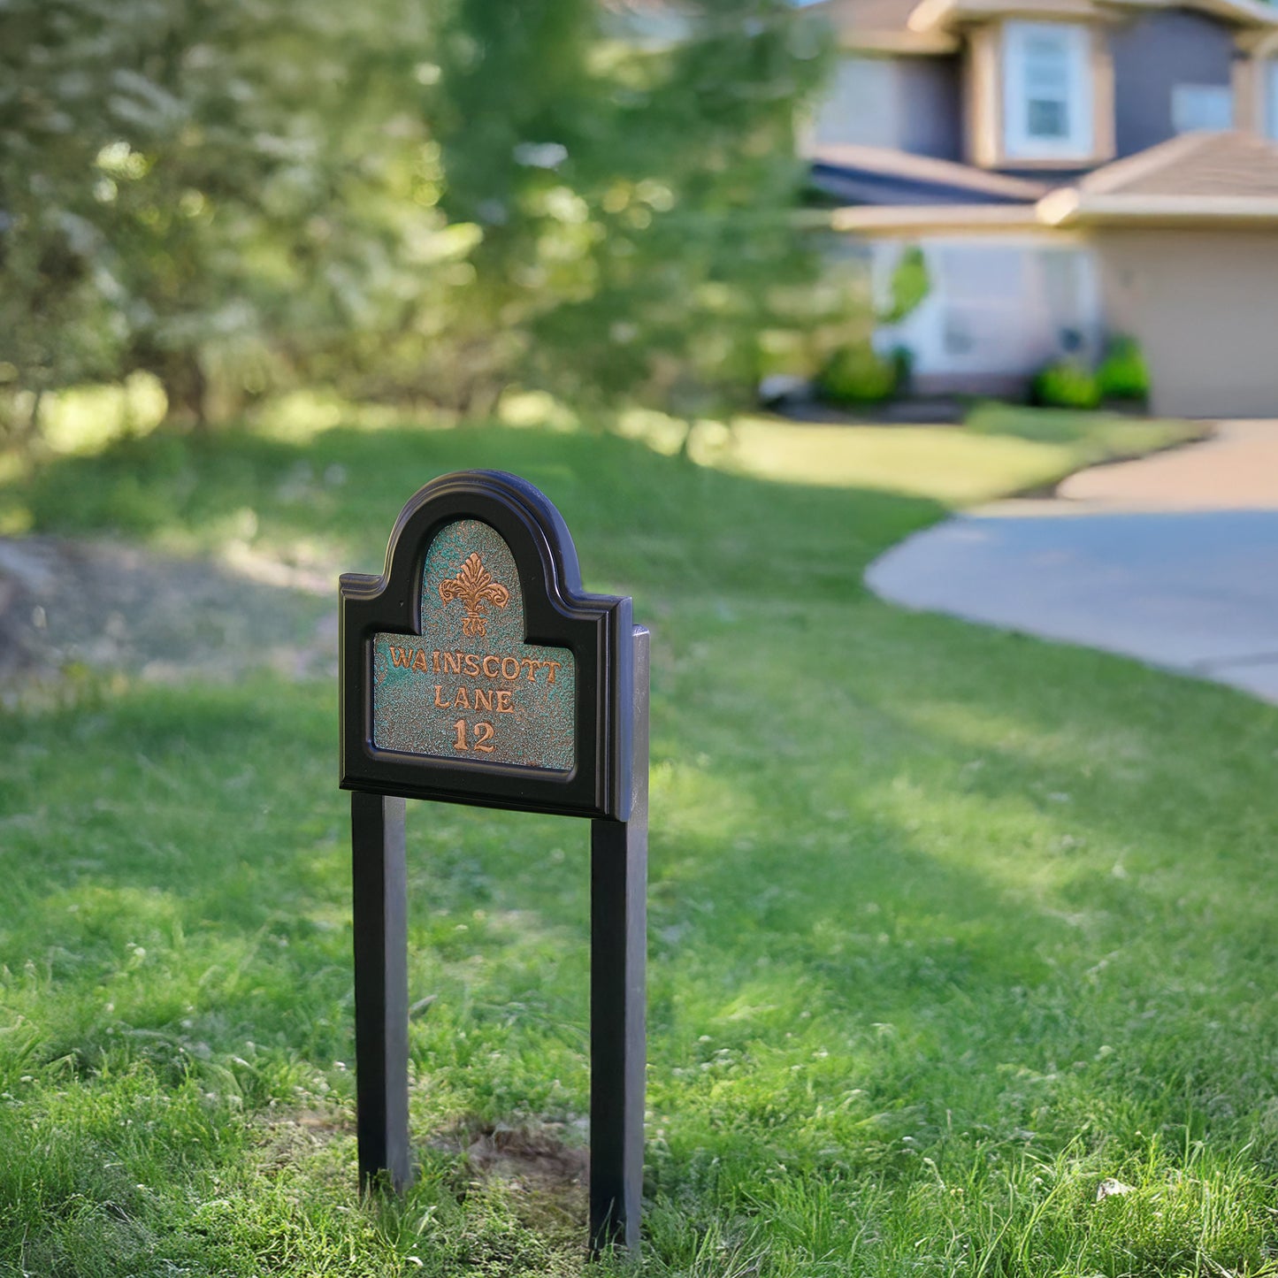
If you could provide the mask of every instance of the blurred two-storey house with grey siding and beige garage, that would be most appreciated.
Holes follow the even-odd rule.
[[[1107,332],[1153,408],[1278,415],[1278,6],[1256,0],[822,0],[840,63],[815,184],[928,392],[1006,392]]]

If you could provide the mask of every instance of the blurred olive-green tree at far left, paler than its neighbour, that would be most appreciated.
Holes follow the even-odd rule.
[[[405,256],[426,127],[403,98],[424,38],[408,0],[10,0],[10,408],[146,369],[199,424],[211,382],[250,391],[266,366],[397,323],[413,272],[383,259]]]

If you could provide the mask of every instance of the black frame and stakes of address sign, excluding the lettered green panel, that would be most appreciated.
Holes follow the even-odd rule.
[[[475,519],[510,548],[525,642],[573,652],[569,772],[378,749],[373,635],[420,635],[422,575],[436,534]],[[649,635],[627,597],[587,594],[555,506],[527,481],[468,470],[428,483],[400,512],[381,576],[339,594],[340,778],[350,790],[359,1182],[403,1191],[408,1127],[405,799],[590,818],[589,1246],[639,1245],[643,1189],[648,882]]]

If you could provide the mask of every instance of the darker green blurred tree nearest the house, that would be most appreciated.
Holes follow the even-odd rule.
[[[466,313],[520,380],[693,417],[749,395],[808,321],[797,112],[823,42],[785,0],[659,6],[645,41],[592,0],[454,0],[429,104],[442,207],[475,227]]]

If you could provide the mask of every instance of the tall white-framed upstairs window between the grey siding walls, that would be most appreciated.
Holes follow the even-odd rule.
[[[1091,33],[1061,22],[1003,28],[1003,150],[1010,160],[1088,160],[1095,144]]]

